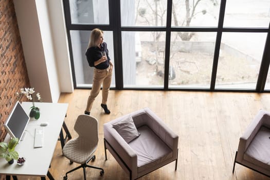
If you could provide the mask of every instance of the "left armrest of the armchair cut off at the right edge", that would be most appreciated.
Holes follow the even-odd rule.
[[[260,110],[254,120],[248,125],[244,134],[240,137],[237,154],[238,158],[241,160],[243,159],[244,153],[250,142],[254,139],[261,126],[266,123],[267,120],[270,120],[269,112]]]

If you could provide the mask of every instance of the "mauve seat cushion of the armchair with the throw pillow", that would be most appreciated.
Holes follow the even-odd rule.
[[[172,158],[172,150],[147,125],[138,128],[140,136],[129,143],[137,155],[138,172]]]

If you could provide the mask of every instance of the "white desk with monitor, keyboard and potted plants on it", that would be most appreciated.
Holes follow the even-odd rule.
[[[31,102],[23,102],[22,106],[26,112],[30,112]],[[64,123],[68,104],[66,103],[44,103],[35,102],[35,106],[40,108],[40,118],[30,119],[23,141],[21,141],[15,150],[19,153],[19,157],[25,157],[26,162],[23,166],[16,164],[9,165],[5,158],[0,158],[0,174],[27,176],[40,176],[45,179],[50,167],[51,159],[55,151],[59,133],[62,133],[62,125]],[[34,148],[34,132],[35,128],[40,127],[41,122],[48,122],[44,127],[43,147]],[[8,135],[7,135],[8,136]],[[6,139],[9,137],[6,137]],[[50,173],[48,174],[48,176]],[[53,179],[53,177],[49,177]]]

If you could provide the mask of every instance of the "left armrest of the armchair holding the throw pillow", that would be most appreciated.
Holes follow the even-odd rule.
[[[103,124],[104,138],[113,147],[115,153],[124,161],[132,173],[137,174],[137,155],[127,142],[118,134],[110,122]],[[117,160],[118,158],[115,157]],[[122,162],[120,162],[122,163]],[[119,164],[120,164],[119,163]]]

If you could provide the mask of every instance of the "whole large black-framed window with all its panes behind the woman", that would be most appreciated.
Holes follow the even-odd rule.
[[[270,91],[270,0],[63,3],[75,87],[92,87],[84,53],[100,28],[112,88]]]

